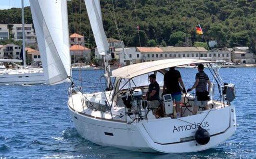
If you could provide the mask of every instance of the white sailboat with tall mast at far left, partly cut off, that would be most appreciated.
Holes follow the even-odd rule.
[[[26,66],[26,52],[25,52],[25,22],[24,22],[24,3],[22,0],[22,32],[23,32],[23,63],[22,69],[2,69],[0,71],[0,85],[34,85],[44,84],[43,69],[28,68]],[[8,61],[0,59],[0,61]],[[15,60],[9,60],[15,61]]]

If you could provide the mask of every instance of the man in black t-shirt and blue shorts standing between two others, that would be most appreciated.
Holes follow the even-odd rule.
[[[171,67],[168,72],[166,72],[164,76],[164,86],[163,86],[163,92],[165,94],[171,94],[172,100],[176,103],[176,112],[177,112],[177,118],[181,117],[181,112],[179,108],[179,103],[181,100],[181,92],[180,92],[180,86],[183,88],[183,92],[186,92],[185,86],[183,84],[181,75],[178,70],[175,70],[175,67]]]

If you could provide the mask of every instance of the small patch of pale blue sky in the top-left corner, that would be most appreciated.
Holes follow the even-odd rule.
[[[23,0],[24,6],[29,6],[29,0]],[[10,8],[21,8],[21,0],[0,0],[0,10],[10,9]]]

